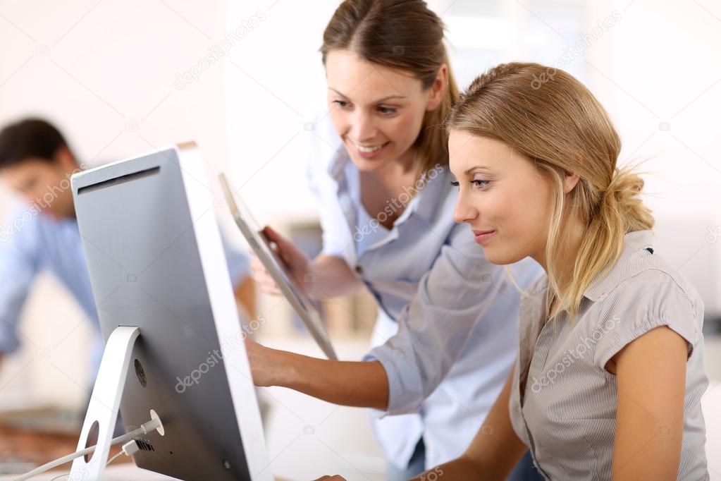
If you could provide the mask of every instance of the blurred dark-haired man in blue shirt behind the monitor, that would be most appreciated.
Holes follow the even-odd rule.
[[[62,134],[45,120],[22,120],[0,131],[0,175],[26,201],[0,226],[0,362],[23,340],[30,341],[17,329],[20,312],[37,273],[50,270],[97,332],[94,380],[103,343],[70,185],[71,175],[80,170]],[[255,293],[247,276],[247,255],[227,244],[224,248],[236,298],[253,316]]]

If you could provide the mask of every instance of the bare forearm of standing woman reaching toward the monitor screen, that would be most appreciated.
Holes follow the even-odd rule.
[[[336,405],[386,410],[388,377],[379,361],[328,361],[275,350],[285,366],[273,383]]]

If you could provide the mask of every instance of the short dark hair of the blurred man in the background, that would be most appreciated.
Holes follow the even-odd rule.
[[[10,167],[27,159],[53,162],[56,151],[67,145],[63,134],[46,120],[20,120],[0,131],[0,168]]]

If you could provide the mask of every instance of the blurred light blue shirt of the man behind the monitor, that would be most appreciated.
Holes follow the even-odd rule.
[[[103,342],[92,294],[87,263],[78,223],[75,219],[56,220],[25,206],[0,226],[0,353],[12,353],[20,343],[32,343],[18,328],[25,299],[42,270],[49,270],[78,301],[85,320],[97,333],[92,352],[92,380],[102,358]],[[244,252],[224,242],[231,279],[240,281],[249,271]],[[75,319],[48,319],[75,325]]]

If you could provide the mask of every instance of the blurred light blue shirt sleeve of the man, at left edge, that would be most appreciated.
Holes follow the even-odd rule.
[[[17,323],[39,266],[33,228],[37,219],[1,226],[0,234],[0,353],[12,353],[20,345]],[[23,221],[23,226],[17,227]]]

